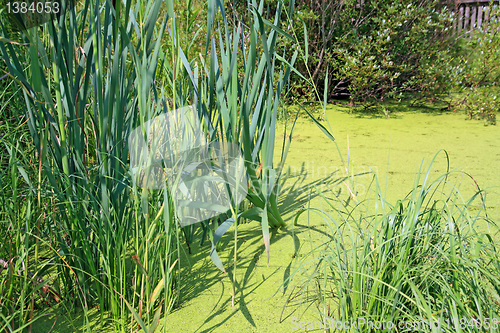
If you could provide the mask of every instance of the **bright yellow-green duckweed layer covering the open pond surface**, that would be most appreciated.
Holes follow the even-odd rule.
[[[426,172],[436,153],[446,150],[450,170],[470,175],[457,172],[450,181],[459,186],[464,198],[471,196],[477,185],[485,189],[489,217],[500,220],[500,126],[484,126],[481,121],[465,120],[463,113],[453,112],[408,111],[392,113],[385,119],[377,115],[359,117],[329,106],[325,116],[328,121],[322,124],[331,126],[336,144],[309,119],[299,118],[297,122],[280,199],[289,227],[272,233],[269,265],[260,225],[240,224],[233,305],[229,274],[234,229],[221,239],[223,250],[219,252],[229,274],[210,261],[209,242],[192,244],[191,254],[184,247],[180,305],[160,326],[166,325],[168,332],[291,332],[300,321],[318,320],[317,309],[307,308],[311,303],[304,302],[309,294],[297,296],[302,277],[297,274],[291,284],[284,281],[294,274],[304,253],[326,240],[327,227],[317,215],[302,214],[296,226],[293,218],[304,205],[324,206],[315,189],[348,198],[350,186],[358,197],[368,195],[373,176],[364,173],[370,170],[377,174],[385,199],[394,203],[413,188],[422,163],[422,172]],[[283,134],[277,138],[276,150],[282,140]],[[431,179],[447,168],[446,154],[441,152],[432,165]],[[341,181],[346,175],[357,175],[354,185]],[[50,322],[50,327],[53,320],[47,316],[45,324]],[[64,318],[59,316],[58,322],[53,332],[73,330]]]

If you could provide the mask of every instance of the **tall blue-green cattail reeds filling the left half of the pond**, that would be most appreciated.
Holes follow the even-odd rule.
[[[28,157],[25,150],[14,149],[14,142],[6,143],[12,184],[4,185],[20,198],[21,175],[29,190],[21,206],[2,197],[9,204],[2,216],[18,224],[8,230],[24,251],[22,256],[2,255],[16,262],[19,275],[24,272],[24,279],[15,281],[35,289],[49,286],[52,301],[83,309],[87,331],[97,329],[88,315],[95,307],[101,326],[155,330],[178,296],[179,211],[174,206],[179,179],[171,188],[165,182],[143,188],[128,165],[130,135],[139,128],[148,142],[149,121],[155,117],[194,105],[203,141],[237,147],[244,158],[252,206],[240,211],[244,206],[233,196],[226,220],[216,223],[211,256],[219,268],[224,270],[215,245],[233,224],[238,237],[239,218],[261,222],[268,260],[269,228],[285,225],[277,198],[290,141],[283,142],[276,163],[275,128],[298,51],[277,53],[278,38],[293,40],[280,27],[283,4],[271,22],[264,18],[264,1],[249,2],[253,19],[243,28],[228,25],[223,2],[208,1],[205,53],[188,59],[192,43],[181,45],[173,2],[162,3],[127,0],[114,7],[110,1],[86,0],[45,24],[43,33],[35,27],[9,35],[2,26],[5,73],[22,88],[34,146]],[[286,10],[291,17],[293,2]],[[161,87],[155,81],[158,72]],[[19,153],[23,163],[35,161],[30,172],[18,163]],[[235,247],[234,268],[236,261]],[[18,290],[33,293],[28,287]],[[12,293],[6,295],[13,299]],[[12,307],[4,321],[15,317],[18,325],[31,323],[28,308],[34,307]]]

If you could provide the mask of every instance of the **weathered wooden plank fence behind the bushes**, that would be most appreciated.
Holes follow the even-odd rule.
[[[490,0],[455,0],[451,2],[451,5],[455,5],[454,33],[457,35],[468,34],[479,27],[487,27],[492,19],[498,19],[498,17],[490,17],[491,3]],[[499,0],[495,0],[493,3],[498,5]]]

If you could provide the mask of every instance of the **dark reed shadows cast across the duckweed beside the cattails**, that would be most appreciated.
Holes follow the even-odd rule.
[[[334,193],[334,189],[344,186],[343,182],[346,180],[347,177],[342,177],[340,171],[337,170],[325,177],[310,181],[304,164],[298,172],[292,173],[287,170],[283,174],[278,207],[289,227],[284,230],[271,230],[271,256],[273,255],[273,244],[283,238],[290,237],[291,244],[293,244],[290,251],[291,258],[282,260],[277,266],[270,266],[269,273],[266,273],[266,276],[262,275],[262,278],[255,276],[258,274],[256,268],[265,267],[267,263],[261,226],[255,221],[238,225],[238,274],[236,281],[234,281],[236,287],[234,308],[231,308],[230,297],[228,300],[228,292],[231,292],[228,289],[232,288],[233,277],[234,229],[231,228],[219,241],[220,250],[218,253],[227,271],[227,273],[223,273],[210,260],[211,242],[205,241],[202,245],[199,241],[202,230],[198,228],[194,237],[198,241],[191,244],[191,254],[189,254],[185,243],[182,244],[181,298],[179,306],[174,311],[187,306],[191,299],[201,297],[203,293],[213,293],[214,290],[217,290],[217,294],[211,295],[217,301],[211,305],[210,315],[200,324],[196,332],[214,331],[227,323],[238,312],[241,312],[248,324],[255,328],[255,315],[251,313],[248,305],[256,300],[248,300],[248,297],[252,294],[255,295],[256,291],[270,278],[276,280],[277,274],[283,274],[280,280],[283,289],[282,295],[285,295],[289,291],[288,280],[291,275],[292,262],[298,256],[301,239],[306,239],[301,237],[301,234],[307,231],[329,237],[327,232],[316,226],[296,225],[294,228],[290,228],[294,223],[295,216],[302,209],[307,208],[307,203],[318,197],[320,193],[333,194],[337,200],[347,196],[346,191],[342,191],[342,193],[335,191]],[[229,287],[227,282],[229,282]],[[212,288],[217,283],[221,284],[221,288]],[[290,305],[288,304],[288,306]]]

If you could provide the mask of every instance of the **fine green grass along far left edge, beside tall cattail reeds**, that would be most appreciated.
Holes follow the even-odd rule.
[[[30,320],[40,318],[34,313],[35,299],[48,290],[26,267],[39,257],[28,236],[40,234],[29,177],[36,167],[26,120],[17,112],[22,108],[20,88],[5,74],[3,61],[0,69],[0,331],[20,332]]]

